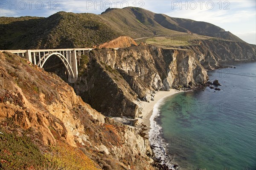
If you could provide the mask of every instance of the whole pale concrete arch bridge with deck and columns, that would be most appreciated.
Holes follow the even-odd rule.
[[[67,48],[67,49],[44,49],[44,50],[2,50],[9,53],[17,54],[26,58],[38,67],[43,68],[49,57],[58,56],[65,68],[67,69],[68,81],[75,82],[78,76],[78,65],[80,65],[80,57],[93,48]]]

